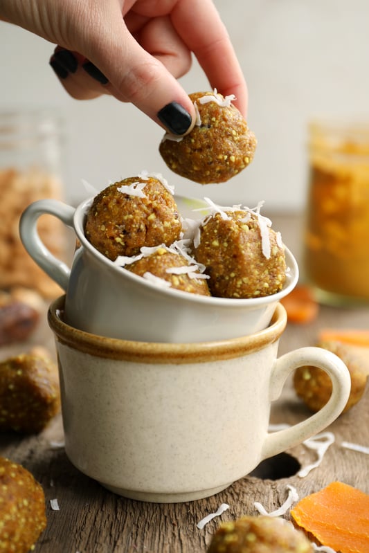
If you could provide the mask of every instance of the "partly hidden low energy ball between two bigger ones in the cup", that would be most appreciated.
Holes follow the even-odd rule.
[[[210,296],[207,280],[199,273],[198,267],[190,264],[183,255],[172,253],[167,248],[156,248],[151,255],[144,256],[125,268],[146,278],[154,275],[177,290]]]

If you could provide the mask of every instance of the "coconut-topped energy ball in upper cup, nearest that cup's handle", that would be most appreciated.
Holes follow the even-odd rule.
[[[170,245],[181,233],[172,191],[156,176],[132,176],[111,184],[94,199],[84,233],[109,260],[136,255],[142,246]]]

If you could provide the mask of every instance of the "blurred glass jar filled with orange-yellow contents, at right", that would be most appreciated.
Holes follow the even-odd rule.
[[[369,302],[369,124],[309,125],[304,268],[318,300]]]

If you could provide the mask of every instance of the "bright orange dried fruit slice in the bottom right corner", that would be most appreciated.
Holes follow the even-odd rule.
[[[318,545],[341,553],[369,551],[369,496],[363,491],[332,482],[301,499],[291,518]]]

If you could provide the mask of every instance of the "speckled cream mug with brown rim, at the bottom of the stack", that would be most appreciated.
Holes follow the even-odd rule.
[[[152,502],[204,498],[265,458],[326,428],[343,410],[350,374],[337,356],[303,347],[278,359],[287,316],[225,341],[168,344],[95,336],[63,322],[64,298],[48,311],[60,368],[65,448],[82,473],[122,496]],[[268,433],[271,401],[303,365],[327,372],[328,403]]]

